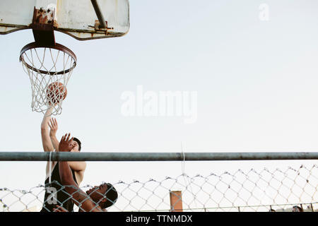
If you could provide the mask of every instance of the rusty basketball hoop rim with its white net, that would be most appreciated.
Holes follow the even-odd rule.
[[[20,52],[20,62],[30,78],[32,110],[45,114],[61,114],[61,105],[66,97],[66,85],[76,66],[76,55],[61,44],[25,45]]]

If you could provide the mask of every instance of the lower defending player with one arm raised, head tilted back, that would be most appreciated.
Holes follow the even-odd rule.
[[[59,151],[67,152],[71,150],[70,144],[73,142],[73,138],[70,138],[70,135],[69,133],[69,135],[65,134],[62,136],[59,142]],[[65,186],[65,191],[79,207],[79,212],[106,212],[106,208],[117,201],[118,193],[114,186],[109,183],[94,186],[93,189],[86,191],[86,193],[82,191],[72,177],[68,162],[59,162],[59,175],[61,183]],[[67,212],[68,210],[57,205],[54,211]]]

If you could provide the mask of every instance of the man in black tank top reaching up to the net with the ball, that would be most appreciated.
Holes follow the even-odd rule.
[[[57,140],[57,119],[51,119],[49,115],[52,113],[52,108],[47,109],[41,124],[42,145],[45,152],[59,151],[59,141]],[[50,128],[50,131],[49,131]],[[81,141],[74,138],[69,143],[70,152],[81,151]],[[86,162],[69,162],[73,179],[76,184],[81,184],[86,169]],[[51,176],[51,177],[49,177]],[[51,184],[49,184],[51,179]],[[45,177],[45,200],[41,212],[52,212],[56,205],[63,206],[68,211],[73,211],[73,202],[66,195],[65,191],[61,191],[61,179],[59,177],[59,162],[47,162],[46,177]]]

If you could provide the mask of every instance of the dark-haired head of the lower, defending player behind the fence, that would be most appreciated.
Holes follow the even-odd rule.
[[[116,189],[110,183],[94,186],[92,189],[86,191],[86,194],[88,194],[95,203],[98,203],[102,209],[112,206],[116,203],[118,198]]]

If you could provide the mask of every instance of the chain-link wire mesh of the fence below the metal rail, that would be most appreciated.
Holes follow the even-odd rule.
[[[143,182],[119,181],[112,183],[118,198],[107,211],[267,212],[292,211],[293,206],[304,211],[317,211],[317,175],[317,165],[301,165],[299,168],[286,169],[238,169],[191,177],[181,174],[174,178],[148,179]],[[69,195],[65,191],[66,187],[61,186],[61,192]],[[91,185],[81,186],[83,191],[95,188]],[[39,211],[44,195],[44,185],[29,190],[0,188],[0,210]],[[100,196],[107,198],[107,194]],[[70,195],[68,199],[74,201]],[[95,207],[100,204],[100,201],[93,202]],[[62,205],[63,202],[58,204]],[[81,204],[77,203],[74,211],[83,210]]]

